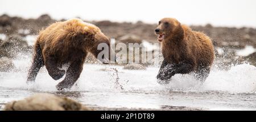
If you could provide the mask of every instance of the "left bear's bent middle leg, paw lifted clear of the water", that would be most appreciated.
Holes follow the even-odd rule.
[[[53,57],[46,58],[46,69],[48,70],[48,74],[55,80],[62,78],[65,74],[65,70],[57,68],[56,60]]]

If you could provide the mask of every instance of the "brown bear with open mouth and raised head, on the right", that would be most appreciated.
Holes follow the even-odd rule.
[[[214,47],[207,35],[192,31],[174,18],[161,19],[155,33],[164,58],[156,77],[160,82],[168,83],[173,75],[191,71],[205,81],[214,60]]]

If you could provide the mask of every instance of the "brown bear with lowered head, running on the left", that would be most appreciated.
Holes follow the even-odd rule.
[[[27,82],[35,81],[40,68],[46,65],[48,74],[55,80],[66,73],[60,70],[64,64],[69,64],[66,76],[56,88],[70,89],[80,77],[82,66],[88,52],[96,58],[101,50],[99,44],[107,45],[108,57],[98,58],[104,64],[115,61],[114,51],[110,48],[110,40],[101,32],[100,28],[80,19],[70,19],[65,22],[51,24],[39,33],[35,42],[35,52],[32,66],[28,71]],[[112,53],[112,54],[110,54]],[[114,56],[114,57],[113,57]]]

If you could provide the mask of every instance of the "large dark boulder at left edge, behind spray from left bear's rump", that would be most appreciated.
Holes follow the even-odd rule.
[[[11,35],[0,47],[0,57],[15,58],[19,53],[31,53],[32,47],[19,35]]]

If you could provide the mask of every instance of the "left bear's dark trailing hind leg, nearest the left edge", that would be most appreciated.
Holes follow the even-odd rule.
[[[44,65],[43,57],[42,57],[42,50],[38,44],[36,44],[35,47],[35,55],[33,57],[33,62],[30,67],[30,70],[28,70],[28,78],[27,82],[34,82],[36,75],[38,75],[38,72],[40,68]]]

